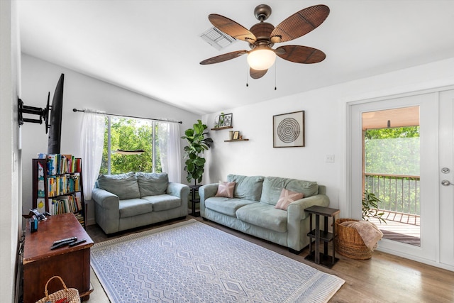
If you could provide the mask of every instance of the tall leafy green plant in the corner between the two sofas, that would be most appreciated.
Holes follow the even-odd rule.
[[[194,185],[197,182],[201,182],[204,175],[205,158],[201,157],[205,150],[208,150],[213,143],[213,139],[205,138],[208,134],[205,132],[207,126],[201,123],[201,120],[197,120],[192,128],[188,128],[182,139],[186,139],[188,145],[184,147],[184,170],[187,171],[187,181],[191,182],[194,180]]]

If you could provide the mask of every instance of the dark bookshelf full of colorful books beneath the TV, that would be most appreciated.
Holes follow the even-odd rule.
[[[49,155],[32,160],[33,209],[51,215],[73,213],[85,227],[82,159],[71,155]]]

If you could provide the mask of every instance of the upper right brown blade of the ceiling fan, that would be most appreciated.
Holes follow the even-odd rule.
[[[271,42],[286,42],[306,35],[317,28],[329,15],[326,5],[309,6],[285,19],[272,31]]]

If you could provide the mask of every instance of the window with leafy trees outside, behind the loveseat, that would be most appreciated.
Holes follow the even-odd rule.
[[[100,174],[162,172],[157,138],[160,124],[145,119],[106,116],[104,150]],[[139,155],[122,155],[117,150],[144,150]]]

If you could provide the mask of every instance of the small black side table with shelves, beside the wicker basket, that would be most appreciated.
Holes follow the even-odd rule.
[[[335,241],[336,236],[336,214],[341,211],[339,209],[330,209],[329,207],[323,206],[311,206],[305,209],[310,214],[310,231],[307,233],[309,236],[309,255],[306,256],[306,260],[325,266],[326,268],[332,268],[334,264],[339,260],[336,258],[335,253]],[[315,228],[312,229],[312,214],[315,214]],[[320,230],[320,216],[324,217],[323,231]],[[333,218],[333,232],[328,232],[328,218]],[[315,248],[312,250],[312,239],[315,239]],[[323,253],[320,250],[320,241],[323,241]],[[333,241],[333,254],[328,255],[328,242]]]

